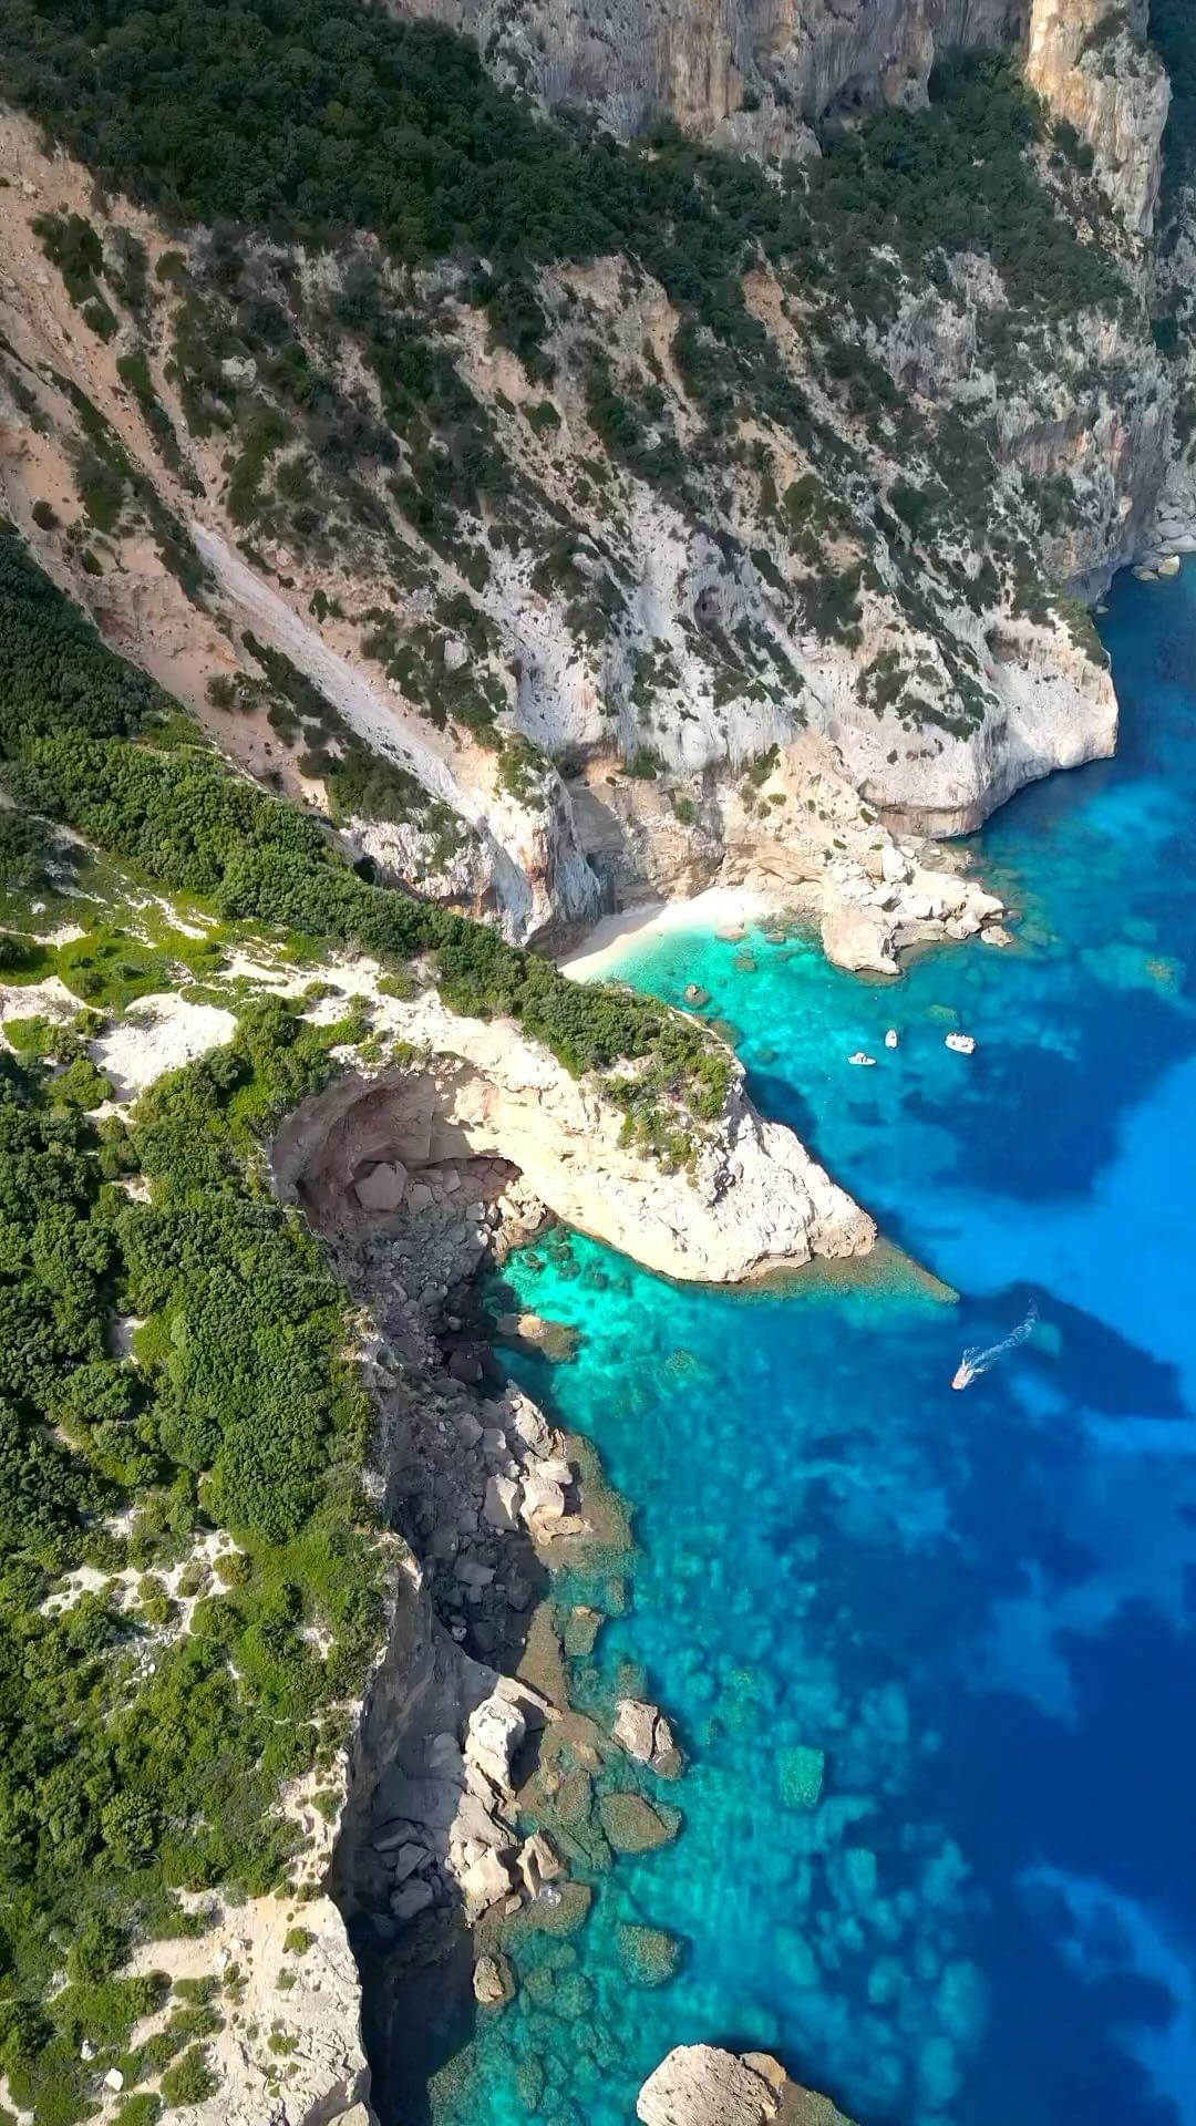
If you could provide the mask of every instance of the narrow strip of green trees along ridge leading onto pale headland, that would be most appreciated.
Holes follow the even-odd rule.
[[[455,1010],[517,1018],[570,1072],[638,1063],[609,1091],[632,1129],[662,1148],[662,1093],[696,1118],[719,1112],[726,1057],[692,1020],[630,991],[570,982],[464,916],[368,884],[317,821],[211,753],[164,744],[179,736],[164,729],[168,697],[106,648],[13,529],[0,532],[0,750],[23,806],[160,884],[211,899],[223,916],[360,946],[387,963],[430,955]],[[128,744],[136,731],[145,740]]]

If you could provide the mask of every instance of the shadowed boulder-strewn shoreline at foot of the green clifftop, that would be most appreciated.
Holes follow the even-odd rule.
[[[368,1322],[375,1480],[413,1554],[328,1877],[360,1967],[383,2120],[423,2094],[413,2030],[455,2028],[464,2047],[470,2018],[513,1996],[513,1926],[568,1933],[585,1920],[600,1856],[579,1826],[579,1782],[604,1769],[583,1813],[607,1862],[679,1828],[634,1784],[638,1767],[681,1771],[660,1707],[624,1697],[604,1733],[564,1688],[551,1577],[583,1556],[617,1558],[628,1535],[589,1454],[502,1384],[483,1342],[477,1282],[532,1235],[553,1246],[543,1205],[502,1163],[477,1161],[441,1205],[326,1242]],[[568,1356],[568,1335],[538,1316],[498,1327]],[[577,1612],[572,1650],[600,1622]]]

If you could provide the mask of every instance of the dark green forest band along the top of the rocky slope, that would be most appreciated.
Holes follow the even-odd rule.
[[[413,264],[485,257],[479,300],[521,351],[543,332],[528,268],[619,251],[758,353],[738,287],[758,247],[860,283],[879,240],[907,261],[979,249],[1015,300],[1075,310],[1119,293],[1024,153],[1041,108],[1002,57],[945,68],[928,113],[883,113],[809,187],[798,170],[777,187],[672,130],[645,153],[538,123],[472,45],[360,0],[4,0],[0,51],[15,102],[181,221],[370,230]]]

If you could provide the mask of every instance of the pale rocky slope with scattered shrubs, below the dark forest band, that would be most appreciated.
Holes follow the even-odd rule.
[[[987,43],[998,13],[966,11],[960,28],[930,9],[907,19],[909,49],[928,64],[934,36]],[[851,36],[900,43],[896,15],[907,11],[856,11]],[[845,32],[845,17],[824,30]],[[1043,43],[1041,57],[1062,108],[1090,55],[1062,66]],[[1143,168],[1158,162],[1145,138],[1158,117],[1156,98],[1141,113]],[[1128,125],[1115,121],[1117,140]],[[704,876],[736,876],[747,842],[777,865],[798,848],[834,895],[830,838],[804,829],[821,808],[811,776],[907,833],[956,833],[1024,780],[1113,748],[1109,674],[1045,587],[1098,591],[1149,523],[1170,395],[1141,306],[1034,319],[964,251],[930,283],[885,264],[902,289],[892,315],[858,319],[847,300],[828,310],[760,266],[743,283],[749,317],[768,372],[804,410],[781,419],[775,387],[749,383],[726,451],[677,359],[690,325],[636,261],[541,274],[545,387],[487,332],[455,266],[404,274],[368,242],[343,257],[249,244],[230,302],[211,232],[181,247],[128,202],[98,208],[85,172],[47,157],[23,119],[2,121],[0,162],[9,508],[113,642],[251,772],[328,806],[383,878],[511,938],[551,935],[632,897],[645,836],[624,821],[636,784],[655,778],[672,816],[702,812]],[[1066,157],[1043,155],[1043,168],[1060,210],[1087,215]],[[79,325],[34,230],[70,215],[94,230],[106,338]],[[1139,270],[1141,236],[1117,217],[1085,225]],[[128,244],[143,257],[138,308],[119,293]],[[485,434],[504,478],[515,468],[517,523],[509,504],[481,504],[447,553],[396,508],[387,406],[366,349],[334,323],[358,281],[387,330],[432,336],[451,361],[479,444]],[[296,432],[275,357],[247,325],[266,310],[368,436],[351,480],[328,478]],[[200,359],[196,334],[215,355]],[[1021,342],[1013,366],[994,351],[1002,336]],[[634,449],[604,432],[611,398],[636,410]],[[260,429],[289,432],[262,466]],[[653,474],[672,453],[694,470]],[[313,476],[326,478],[319,536],[289,500]],[[98,521],[94,495],[113,478],[123,500],[102,502]],[[913,538],[892,510],[911,487],[949,495]],[[1047,525],[1043,497],[1060,487],[1068,502]],[[994,527],[1043,589],[998,589]],[[445,719],[441,693],[460,712]],[[381,812],[360,802],[362,776],[336,795],[330,763],[351,742],[400,772]],[[753,776],[773,748],[781,780],[762,791]],[[579,823],[596,804],[600,863]]]

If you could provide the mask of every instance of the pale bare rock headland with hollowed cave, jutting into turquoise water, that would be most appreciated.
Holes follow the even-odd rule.
[[[426,1061],[338,1080],[275,1140],[279,1193],[298,1195],[317,1225],[340,1225],[349,1193],[362,1210],[362,1167],[398,1161],[417,1176],[498,1157],[566,1225],[672,1278],[736,1284],[875,1239],[866,1212],[794,1133],[755,1112],[736,1063],[724,1114],[694,1135],[692,1165],[664,1174],[624,1142],[602,1084],[570,1078],[513,1023],[458,1018],[432,991],[415,1003],[379,997],[377,1012]]]

